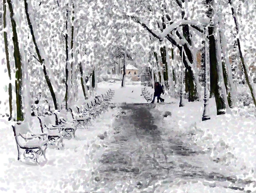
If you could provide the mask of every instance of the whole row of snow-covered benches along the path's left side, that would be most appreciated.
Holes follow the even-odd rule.
[[[114,91],[96,96],[84,105],[74,106],[67,110],[56,110],[53,115],[31,117],[30,121],[19,121],[12,125],[18,149],[18,160],[29,163],[44,157],[49,145],[58,149],[63,146],[63,139],[75,137],[77,127],[87,127],[91,120],[107,110]]]

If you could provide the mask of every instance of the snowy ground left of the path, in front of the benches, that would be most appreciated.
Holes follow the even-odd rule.
[[[75,138],[64,139],[62,150],[48,148],[47,162],[39,166],[17,161],[12,123],[1,120],[0,192],[90,192],[96,183],[93,168],[106,148],[102,139],[113,133],[111,124],[118,112],[118,108],[109,110],[88,129],[78,128]]]

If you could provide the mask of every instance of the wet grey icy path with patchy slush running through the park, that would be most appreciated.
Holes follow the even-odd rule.
[[[114,137],[96,169],[95,180],[103,188],[101,191],[109,192],[114,187],[116,191],[118,186],[123,191],[126,186],[128,192],[169,192],[187,184],[188,192],[200,188],[203,192],[241,192],[251,183],[239,182],[228,175],[228,170],[220,173],[209,161],[208,152],[186,144],[185,138],[175,134],[167,138],[165,129],[157,127],[162,118],[154,104],[120,107],[123,114],[113,125]]]

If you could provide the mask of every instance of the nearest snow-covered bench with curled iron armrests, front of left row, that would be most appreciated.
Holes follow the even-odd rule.
[[[27,122],[18,122],[12,125],[18,150],[18,160],[38,164],[38,159],[43,156],[46,160],[48,134],[40,126],[31,131],[32,125]],[[35,132],[36,131],[36,132]]]

